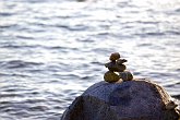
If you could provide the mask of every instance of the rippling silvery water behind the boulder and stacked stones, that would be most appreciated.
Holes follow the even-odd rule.
[[[115,51],[180,99],[180,1],[1,0],[1,120],[59,120]]]

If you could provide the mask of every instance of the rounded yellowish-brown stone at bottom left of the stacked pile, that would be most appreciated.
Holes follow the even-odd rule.
[[[104,80],[106,82],[112,83],[112,82],[117,82],[120,80],[119,75],[117,73],[113,73],[111,71],[108,71],[105,73],[104,75]]]

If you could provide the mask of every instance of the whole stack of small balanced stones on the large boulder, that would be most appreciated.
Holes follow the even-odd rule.
[[[122,81],[133,80],[132,73],[127,71],[127,67],[123,64],[128,60],[120,58],[119,52],[111,53],[109,58],[110,62],[105,64],[105,67],[109,70],[104,75],[104,80],[106,82],[112,83],[119,81],[120,79],[122,79]]]

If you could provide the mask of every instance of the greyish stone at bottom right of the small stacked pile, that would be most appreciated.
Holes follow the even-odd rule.
[[[133,80],[133,74],[130,71],[120,72],[119,75],[123,81],[132,81]]]

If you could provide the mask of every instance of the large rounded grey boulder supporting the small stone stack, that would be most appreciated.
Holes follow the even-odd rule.
[[[75,98],[61,120],[178,120],[179,117],[176,104],[161,86],[136,80],[94,84]]]

